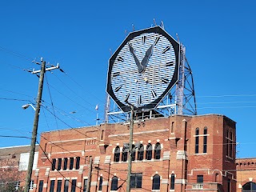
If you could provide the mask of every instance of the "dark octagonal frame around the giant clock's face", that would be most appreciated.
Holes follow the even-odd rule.
[[[120,50],[122,50],[122,47],[125,46],[127,42],[130,42],[130,40],[133,39],[134,37],[137,37],[137,36],[139,36],[141,34],[145,34],[145,33],[162,34],[163,36],[165,36],[169,40],[169,42],[171,43],[171,45],[174,48],[174,54],[175,54],[175,59],[176,59],[176,66],[175,66],[175,70],[174,70],[174,76],[171,79],[171,81],[170,81],[169,85],[167,86],[166,90],[160,96],[158,96],[158,98],[156,98],[153,102],[150,102],[149,104],[147,104],[145,106],[140,106],[140,107],[134,106],[134,110],[153,110],[156,106],[158,106],[159,102],[162,101],[162,98],[164,98],[166,96],[166,94],[169,93],[170,89],[178,81],[179,53],[180,53],[180,45],[179,45],[179,43],[176,42],[176,40],[174,40],[174,38],[172,38],[170,36],[170,34],[167,34],[166,31],[163,30],[160,26],[154,26],[154,27],[151,27],[151,28],[148,28],[148,29],[145,29],[145,30],[138,30],[138,31],[131,32],[126,37],[126,39],[122,42],[121,46],[118,47],[118,50],[116,50],[114,52],[114,54],[111,56],[111,58],[109,60],[109,68],[108,68],[108,73],[107,73],[106,92],[107,92],[107,94],[110,95],[110,97],[114,100],[114,102],[116,102],[116,104],[124,112],[129,112],[130,111],[130,106],[126,106],[127,103],[125,104],[124,101],[119,101],[118,98],[116,98],[116,96],[114,95],[114,91],[113,91],[113,88],[111,86],[111,71],[112,71],[112,67],[114,65],[115,59],[118,57],[118,54],[119,54]]]

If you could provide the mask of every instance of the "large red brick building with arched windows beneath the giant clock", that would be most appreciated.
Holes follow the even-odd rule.
[[[218,114],[135,123],[131,191],[236,191],[235,124]],[[42,133],[33,191],[126,191],[129,138],[120,123]]]

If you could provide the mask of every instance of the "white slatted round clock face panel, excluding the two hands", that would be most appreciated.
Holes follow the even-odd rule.
[[[130,45],[129,45],[130,43]],[[138,71],[134,54],[142,63],[146,51],[153,46],[142,72]],[[161,97],[174,75],[176,58],[174,47],[162,34],[145,33],[134,37],[118,53],[111,71],[111,86],[119,101],[141,107]],[[128,104],[126,104],[128,106]]]

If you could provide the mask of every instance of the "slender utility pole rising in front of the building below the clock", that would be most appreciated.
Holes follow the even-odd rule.
[[[130,192],[130,174],[131,174],[131,158],[133,150],[133,136],[134,136],[134,106],[130,105],[130,140],[129,140],[129,158],[128,158],[128,175],[126,183],[126,192]]]

